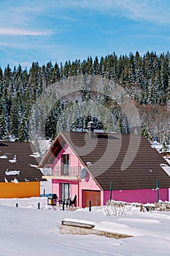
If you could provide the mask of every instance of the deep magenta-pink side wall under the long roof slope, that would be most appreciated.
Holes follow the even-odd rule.
[[[157,201],[156,189],[112,190],[112,199],[127,203],[155,203]],[[169,200],[169,189],[159,189],[159,199]],[[104,205],[109,200],[109,191],[104,191]]]

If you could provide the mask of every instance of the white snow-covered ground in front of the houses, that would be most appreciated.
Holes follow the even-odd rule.
[[[169,255],[170,212],[140,212],[131,207],[119,214],[123,215],[113,216],[107,206],[90,212],[88,208],[62,211],[47,206],[47,197],[0,199],[0,255]],[[66,218],[94,222],[98,230],[134,237],[63,235],[59,225]]]

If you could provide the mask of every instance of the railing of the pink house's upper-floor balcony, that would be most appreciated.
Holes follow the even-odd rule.
[[[42,170],[44,176],[80,176],[81,167],[71,166],[63,173],[61,166],[55,166],[54,169],[46,167]]]

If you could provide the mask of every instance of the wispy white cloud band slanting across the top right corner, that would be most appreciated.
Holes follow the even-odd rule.
[[[131,18],[132,20],[147,20],[153,23],[170,23],[169,1],[162,0],[84,0],[62,1],[61,8],[88,9],[99,12]]]

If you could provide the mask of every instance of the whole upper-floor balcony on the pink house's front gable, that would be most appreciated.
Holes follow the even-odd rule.
[[[62,171],[61,166],[55,166],[54,169],[45,167],[42,170],[43,176],[48,176],[48,178],[58,178],[58,179],[77,179],[80,177],[80,166],[69,167],[69,170]]]

